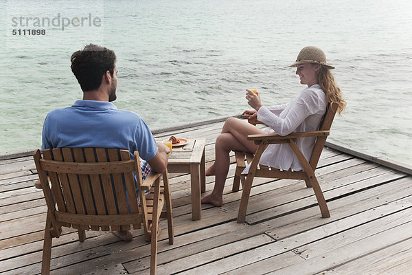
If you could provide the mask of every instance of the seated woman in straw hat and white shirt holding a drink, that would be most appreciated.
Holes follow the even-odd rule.
[[[328,102],[338,103],[338,113],[345,109],[341,89],[334,83],[334,76],[326,63],[325,54],[318,47],[304,47],[297,56],[297,61],[288,67],[297,67],[296,74],[300,83],[308,85],[292,102],[273,107],[264,107],[260,96],[247,89],[248,104],[254,109],[244,111],[251,113],[249,120],[257,119],[268,125],[279,135],[292,132],[317,131],[325,114]],[[230,151],[248,151],[255,153],[258,145],[247,140],[247,135],[263,134],[264,131],[247,123],[245,120],[229,118],[223,126],[222,133],[216,139],[216,161],[206,171],[207,176],[215,175],[214,190],[203,197],[202,203],[222,206],[223,189],[229,171]],[[306,159],[312,154],[316,137],[304,137],[297,140],[297,146]],[[309,159],[308,159],[309,160]],[[260,159],[260,164],[283,170],[303,170],[299,159],[288,144],[269,145]],[[247,173],[247,167],[244,173]]]

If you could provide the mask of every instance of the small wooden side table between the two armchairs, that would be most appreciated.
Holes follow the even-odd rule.
[[[204,138],[188,139],[187,144],[173,147],[169,156],[169,173],[190,173],[192,219],[201,219],[201,192],[206,190]]]

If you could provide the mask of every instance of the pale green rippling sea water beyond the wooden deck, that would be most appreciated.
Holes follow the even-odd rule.
[[[0,10],[0,154],[41,146],[47,112],[82,97],[69,58],[88,43],[115,51],[115,104],[151,129],[239,114],[247,88],[266,105],[292,100],[304,87],[284,66],[316,45],[347,100],[328,140],[412,164],[412,1],[16,0]]]

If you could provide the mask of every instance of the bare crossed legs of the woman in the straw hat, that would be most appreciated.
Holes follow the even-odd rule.
[[[261,134],[264,131],[237,118],[229,118],[223,126],[222,133],[216,139],[216,161],[207,169],[206,175],[215,175],[214,189],[210,195],[203,197],[202,203],[222,206],[223,189],[229,171],[230,151],[247,151],[255,153],[258,145],[247,140],[247,135]]]

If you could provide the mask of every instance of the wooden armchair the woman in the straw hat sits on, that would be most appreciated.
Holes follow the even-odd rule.
[[[312,187],[314,190],[314,195],[316,196],[317,201],[319,203],[319,207],[321,208],[322,217],[330,217],[325,197],[323,197],[323,192],[321,190],[321,187],[319,186],[319,182],[317,181],[317,178],[314,175],[314,170],[316,169],[316,166],[319,162],[319,157],[321,156],[323,146],[325,145],[326,137],[328,137],[329,135],[330,126],[332,126],[332,122],[337,107],[338,104],[336,102],[330,103],[328,105],[328,110],[323,116],[323,120],[319,127],[319,131],[305,133],[290,133],[286,136],[280,136],[276,133],[268,133],[264,135],[248,135],[248,140],[253,140],[255,144],[259,144],[259,147],[254,156],[251,153],[244,153],[240,151],[235,152],[237,166],[235,177],[233,179],[233,192],[239,190],[240,181],[242,181],[243,187],[242,199],[240,200],[240,207],[238,212],[238,223],[244,223],[246,219],[247,203],[249,201],[249,196],[251,193],[251,187],[254,177],[268,177],[278,179],[304,179],[306,181],[306,186]],[[301,151],[295,143],[297,138],[301,137],[317,137],[317,141],[314,144],[314,148],[309,162],[306,160],[306,158],[301,153]],[[292,170],[279,170],[276,168],[271,168],[262,165],[259,165],[258,168],[260,157],[262,156],[262,153],[266,146],[268,146],[268,144],[282,143],[289,144],[290,148],[292,148],[293,152],[297,155],[302,166],[304,166],[303,171],[293,172]],[[245,156],[247,162],[251,162],[249,173],[246,175],[246,179],[244,179],[244,175],[241,174],[244,168],[246,167],[244,162]]]

